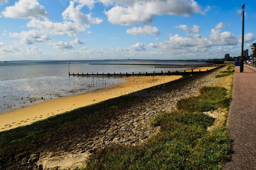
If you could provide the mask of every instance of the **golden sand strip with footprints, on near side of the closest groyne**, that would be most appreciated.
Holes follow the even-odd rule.
[[[103,100],[115,98],[117,96],[135,92],[151,86],[163,84],[181,77],[182,76],[128,77],[124,79],[126,82],[121,80],[124,83],[119,83],[111,88],[100,89],[94,92],[55,100],[48,100],[28,107],[4,112],[0,114],[0,131],[27,125],[31,122],[45,119],[52,115],[98,103]]]

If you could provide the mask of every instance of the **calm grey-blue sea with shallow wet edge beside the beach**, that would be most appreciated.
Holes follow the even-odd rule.
[[[89,63],[136,63],[154,64],[154,60],[95,60],[70,61],[70,73],[144,73],[153,72],[152,65],[90,65]],[[189,64],[203,62],[156,61],[156,64]],[[160,71],[181,71],[174,68],[156,68]],[[186,68],[188,69],[188,68]],[[189,68],[191,69],[191,68]],[[98,84],[97,78],[68,76],[68,61],[29,61],[0,63],[0,113],[16,108],[91,92],[117,83],[118,78],[104,78],[104,84]],[[119,80],[120,82],[120,80]],[[21,99],[23,98],[23,99]],[[32,102],[31,102],[32,101]]]

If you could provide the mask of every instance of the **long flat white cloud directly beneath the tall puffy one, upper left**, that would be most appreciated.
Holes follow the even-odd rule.
[[[33,27],[40,29],[42,33],[51,35],[65,35],[70,37],[77,37],[76,33],[82,33],[89,28],[88,25],[80,25],[79,23],[73,23],[71,21],[51,22],[49,20],[41,21],[38,19],[32,19],[27,23],[27,27]]]

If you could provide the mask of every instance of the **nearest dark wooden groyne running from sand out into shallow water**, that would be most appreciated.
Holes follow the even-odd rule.
[[[213,70],[213,69],[211,69],[211,70]],[[75,74],[75,73],[73,73],[73,74],[70,74],[69,73],[69,76],[109,76],[109,77],[111,77],[111,76],[172,76],[172,75],[179,75],[179,76],[186,76],[186,75],[194,75],[194,74],[199,74],[199,73],[204,73],[204,72],[208,72],[208,71],[211,71],[211,70],[206,70],[206,71],[201,71],[201,70],[199,70],[199,71],[193,71],[193,70],[191,70],[191,71],[186,71],[186,70],[184,70],[184,71],[178,71],[178,70],[176,70],[175,72],[170,72],[170,71],[168,71],[168,72],[163,72],[163,71],[161,71],[161,72],[158,72],[158,73],[155,73],[155,71],[153,71],[153,72],[151,72],[151,73],[149,73],[149,72],[146,72],[146,73],[134,73],[134,72],[132,72],[132,73],[77,73],[77,74]]]

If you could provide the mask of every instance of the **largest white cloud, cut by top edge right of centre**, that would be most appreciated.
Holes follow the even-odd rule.
[[[179,15],[189,16],[200,13],[201,9],[194,0],[147,0],[132,1],[127,7],[114,6],[105,14],[112,24],[135,25],[148,24],[154,15]]]

